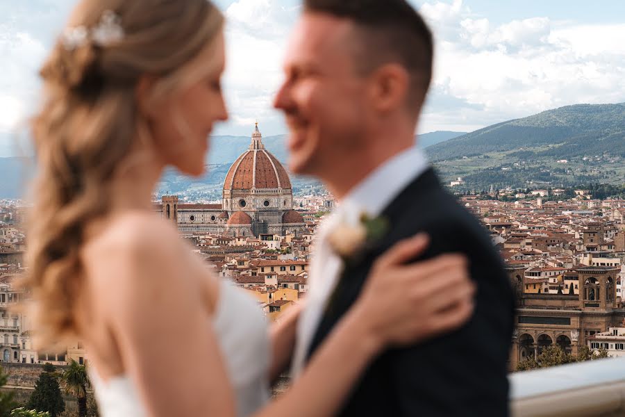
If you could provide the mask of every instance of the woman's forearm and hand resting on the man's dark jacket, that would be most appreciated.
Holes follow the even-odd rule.
[[[469,319],[475,288],[464,258],[443,255],[402,265],[424,244],[419,237],[406,240],[378,259],[362,295],[313,355],[303,375],[254,417],[332,416],[360,373],[385,347],[416,343]],[[446,296],[431,296],[440,294]]]

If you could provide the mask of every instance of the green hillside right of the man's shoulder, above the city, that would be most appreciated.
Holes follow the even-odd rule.
[[[625,183],[625,103],[578,104],[426,149],[454,191]]]

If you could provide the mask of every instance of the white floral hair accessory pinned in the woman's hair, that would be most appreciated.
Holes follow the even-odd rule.
[[[106,10],[102,13],[100,22],[88,30],[85,26],[66,28],[61,35],[63,46],[68,51],[83,47],[89,41],[99,47],[108,47],[110,44],[124,39],[122,19],[113,11]]]

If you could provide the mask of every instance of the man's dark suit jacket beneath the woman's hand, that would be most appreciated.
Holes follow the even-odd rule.
[[[376,257],[419,231],[431,238],[419,259],[449,252],[468,256],[478,287],[476,308],[471,320],[456,332],[383,352],[365,370],[339,415],[508,416],[507,361],[514,300],[489,236],[442,188],[431,169],[403,190],[383,216],[390,221],[390,231],[362,261],[344,270],[309,357],[356,300]]]

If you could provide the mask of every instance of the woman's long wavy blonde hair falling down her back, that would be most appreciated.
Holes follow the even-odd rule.
[[[159,95],[183,88],[181,72],[221,32],[207,0],[83,0],[70,27],[92,28],[108,10],[122,39],[72,49],[58,40],[40,74],[44,101],[31,129],[37,154],[28,229],[27,288],[42,341],[74,336],[85,224],[110,210],[110,180],[142,126],[135,86],[158,77]]]

